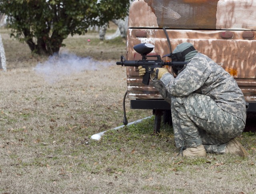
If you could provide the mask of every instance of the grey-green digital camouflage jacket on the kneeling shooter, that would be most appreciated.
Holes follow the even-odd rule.
[[[192,92],[210,96],[218,107],[245,123],[245,99],[236,80],[204,54],[196,54],[176,78],[167,73],[160,82],[172,96],[182,97]]]

